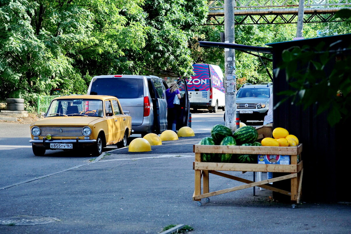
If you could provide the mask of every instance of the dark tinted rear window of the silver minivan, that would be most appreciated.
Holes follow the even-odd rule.
[[[111,95],[117,98],[141,98],[144,96],[144,82],[139,78],[95,78],[90,94]]]

